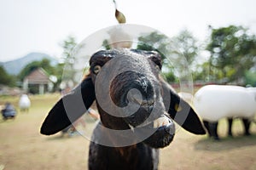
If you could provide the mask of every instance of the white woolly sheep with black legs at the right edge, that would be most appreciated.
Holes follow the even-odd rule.
[[[245,134],[256,114],[256,88],[230,85],[207,85],[199,89],[194,98],[195,111],[203,119],[210,136],[218,139],[218,120],[227,117],[229,135],[232,136],[232,118],[241,117]]]

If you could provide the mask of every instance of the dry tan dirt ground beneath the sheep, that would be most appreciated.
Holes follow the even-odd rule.
[[[87,169],[90,141],[82,136],[44,136],[39,128],[59,94],[32,96],[32,108],[28,113],[19,112],[15,120],[0,119],[0,170],[65,170]],[[0,97],[0,105],[6,101],[18,104],[17,97]],[[179,128],[172,144],[160,150],[160,170],[170,169],[256,169],[256,126],[253,135],[241,135],[241,122],[234,122],[234,138],[227,138],[226,122],[222,120],[218,132],[220,141],[212,141],[207,135],[196,136]]]

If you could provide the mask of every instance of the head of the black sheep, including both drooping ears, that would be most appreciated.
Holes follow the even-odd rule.
[[[52,134],[67,127],[95,99],[104,127],[139,133],[150,129],[143,142],[152,147],[165,147],[172,142],[172,119],[192,133],[205,133],[195,111],[160,78],[161,66],[160,54],[156,52],[97,52],[90,58],[89,77],[54,106],[41,133]],[[178,105],[183,111],[179,111]],[[69,112],[72,116],[67,116]]]

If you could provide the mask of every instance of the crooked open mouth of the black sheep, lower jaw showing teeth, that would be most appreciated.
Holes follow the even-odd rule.
[[[167,116],[160,116],[160,118],[153,122],[146,122],[140,126],[131,127],[132,131],[139,131],[139,133],[148,133],[149,137],[144,139],[145,144],[154,148],[163,148],[171,144],[175,134],[175,125]]]

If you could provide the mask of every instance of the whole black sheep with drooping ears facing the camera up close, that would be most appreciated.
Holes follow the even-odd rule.
[[[153,51],[93,54],[90,74],[49,111],[41,133],[61,131],[96,100],[101,122],[90,142],[89,169],[157,169],[158,148],[175,133],[172,119],[191,133],[205,133],[195,111],[160,78],[161,66]]]

